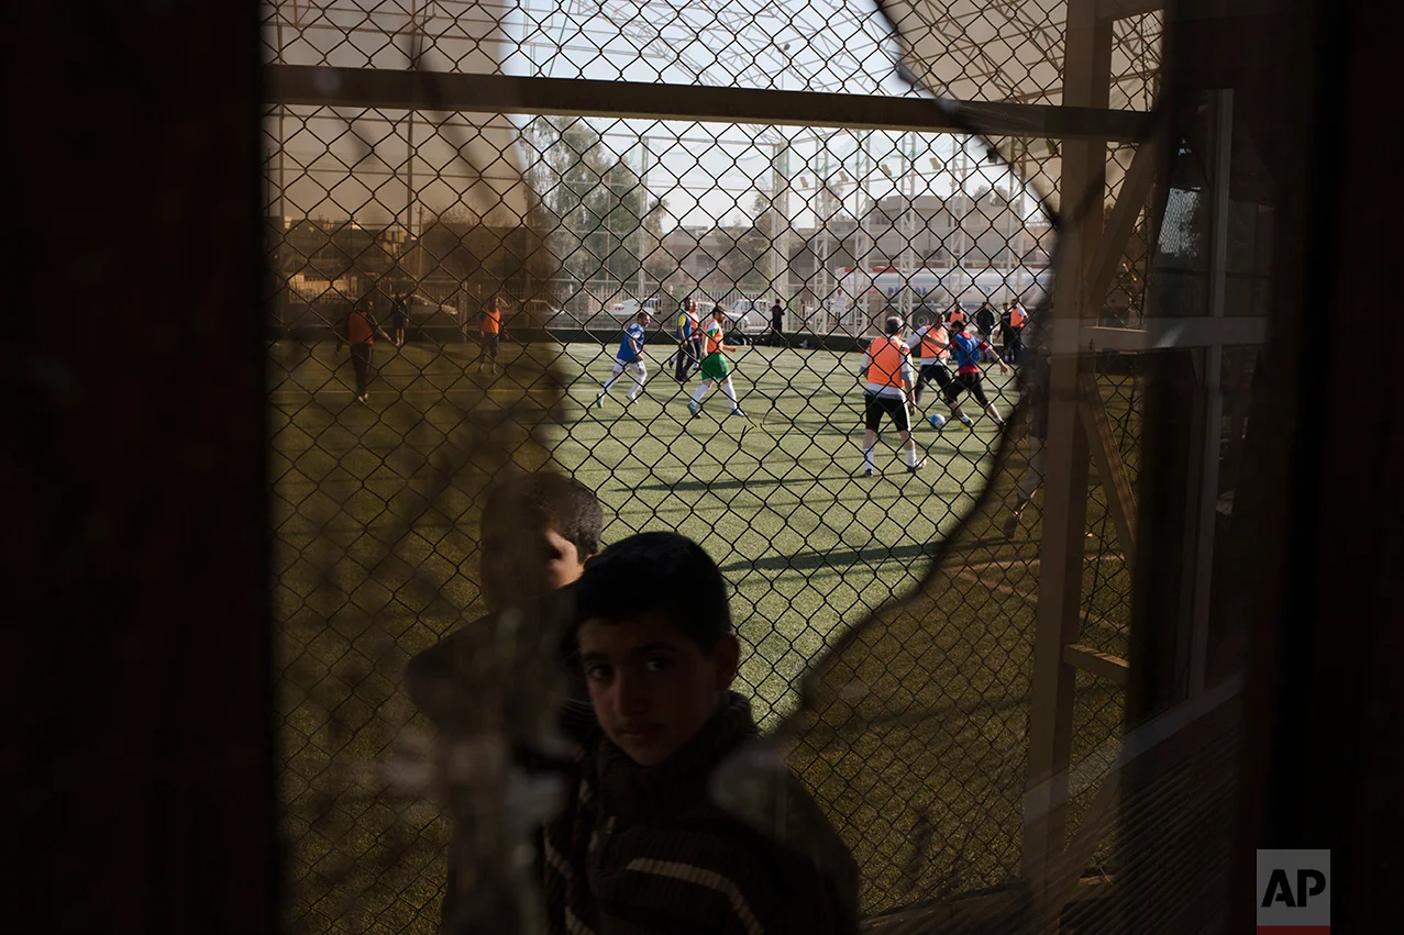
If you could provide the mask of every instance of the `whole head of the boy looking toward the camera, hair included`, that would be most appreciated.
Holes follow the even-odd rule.
[[[691,743],[736,678],[726,581],[675,532],[629,536],[576,585],[574,644],[595,717],[640,767]]]

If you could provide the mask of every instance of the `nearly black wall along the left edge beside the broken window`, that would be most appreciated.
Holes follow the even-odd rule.
[[[7,24],[10,931],[275,925],[260,14],[198,7]]]

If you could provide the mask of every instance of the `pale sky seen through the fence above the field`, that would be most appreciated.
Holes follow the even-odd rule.
[[[270,14],[265,38],[272,49],[282,51],[284,62],[403,69],[413,51],[406,13],[411,8],[425,37],[420,66],[428,70],[915,93],[896,76],[886,22],[870,0],[807,0],[802,6],[774,0],[519,0],[496,7],[465,0],[326,0],[316,8],[282,0],[278,15]],[[403,206],[406,142],[403,128],[396,125],[402,117],[362,114],[351,133],[338,132],[333,125],[340,118],[330,114],[310,131],[303,125],[299,132],[295,122],[292,131],[285,131],[295,163],[292,175],[285,177],[296,184],[298,167],[316,168],[303,177],[293,201],[314,201],[323,190],[334,188],[336,204],[358,216]],[[529,119],[511,118],[518,128]],[[943,133],[911,135],[903,145],[897,135],[880,132],[682,121],[590,122],[607,146],[633,166],[643,166],[650,194],[667,202],[665,227],[740,220],[758,191],[783,191],[772,159],[786,142],[790,184],[785,211],[795,226],[814,223],[816,173],[830,178],[830,191],[844,199],[849,212],[858,209],[856,178],[866,178],[866,197],[897,192],[883,167],[893,175],[906,174],[907,185],[914,185],[913,194],[918,195],[948,195],[959,175],[965,175],[967,191],[1016,187],[1002,163],[984,161],[983,143],[974,140],[972,156],[959,159],[960,139]],[[456,133],[451,128],[435,133],[427,119],[417,124],[414,190],[417,201],[435,211],[452,204],[455,188],[466,187],[479,168],[463,160],[453,164],[465,135],[476,131],[466,121]],[[827,136],[827,145],[820,133]],[[863,142],[866,157],[859,153]],[[910,160],[903,157],[904,149]],[[518,153],[524,164],[525,150],[518,147]],[[505,163],[496,171],[515,174]],[[320,208],[326,213],[330,204]]]

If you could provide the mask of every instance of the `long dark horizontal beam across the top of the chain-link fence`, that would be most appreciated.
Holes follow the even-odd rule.
[[[1139,142],[1151,115],[1098,107],[983,104],[882,94],[772,91],[585,79],[270,65],[270,104],[463,114],[552,114],[775,126],[970,132]]]

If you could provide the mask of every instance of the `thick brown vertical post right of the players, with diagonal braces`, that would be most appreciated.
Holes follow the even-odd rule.
[[[1063,102],[1108,107],[1111,22],[1098,22],[1095,0],[1070,0],[1066,32]],[[1085,258],[1095,256],[1101,234],[1106,142],[1067,140],[1063,153],[1060,202],[1063,216],[1071,219],[1071,225],[1061,232],[1059,244],[1052,333],[1064,327],[1075,331],[1088,312],[1082,268]],[[1088,191],[1095,191],[1098,197],[1084,216],[1077,216]],[[1049,877],[1063,856],[1067,837],[1067,765],[1073,743],[1075,671],[1064,663],[1063,647],[1075,642],[1078,629],[1090,458],[1087,437],[1078,424],[1080,352],[1075,347],[1054,345],[1053,350],[1029,710],[1029,774],[1024,802],[1024,875],[1045,928],[1057,922],[1060,907],[1050,904],[1054,894]]]

